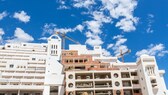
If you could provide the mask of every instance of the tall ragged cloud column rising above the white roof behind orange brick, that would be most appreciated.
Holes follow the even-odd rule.
[[[100,38],[100,34],[102,34],[101,27],[103,26],[103,23],[110,23],[111,18],[105,16],[103,12],[94,11],[91,14],[94,20],[84,22],[89,30],[89,32],[86,32],[87,40],[85,43],[90,46],[102,45],[103,41]]]

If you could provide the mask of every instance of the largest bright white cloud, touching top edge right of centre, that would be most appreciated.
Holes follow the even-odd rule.
[[[122,19],[116,23],[125,32],[134,31],[138,18],[133,16],[137,6],[137,0],[102,0],[103,10],[108,10],[114,19]]]

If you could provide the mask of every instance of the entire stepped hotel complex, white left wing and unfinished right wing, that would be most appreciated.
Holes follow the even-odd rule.
[[[61,50],[58,35],[0,46],[0,95],[168,95],[164,73],[154,56],[122,63],[100,46]]]

